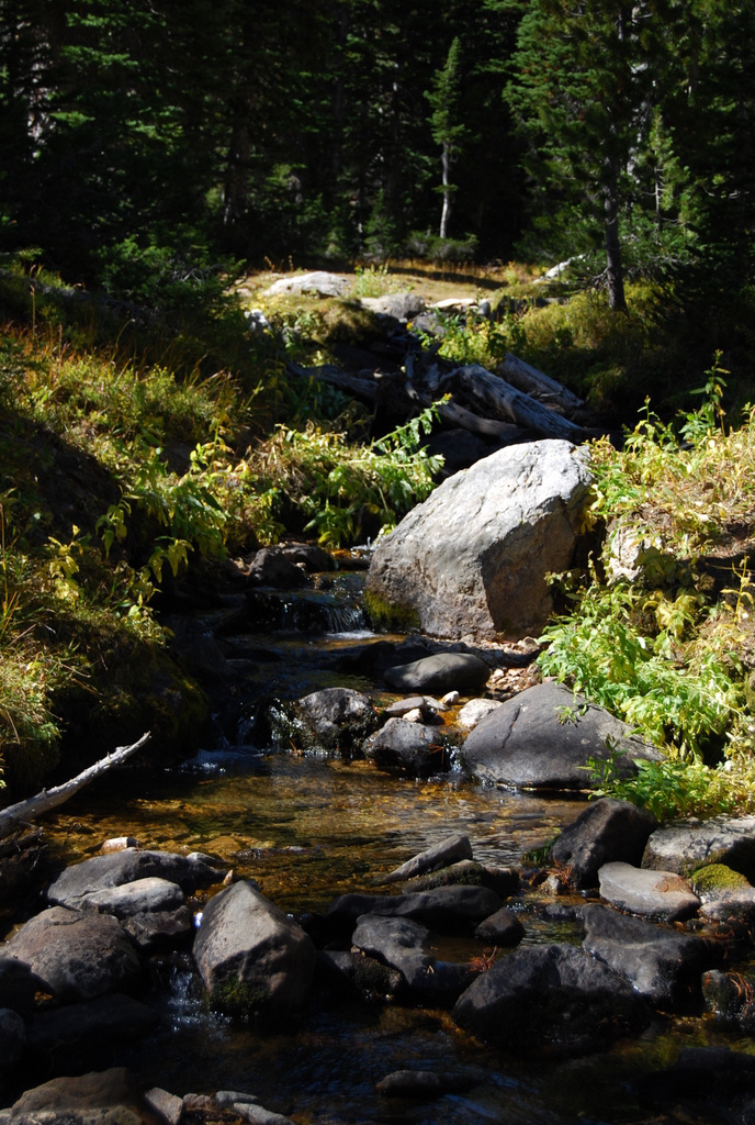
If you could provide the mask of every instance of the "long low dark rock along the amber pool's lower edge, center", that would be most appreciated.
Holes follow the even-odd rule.
[[[413,918],[440,933],[469,933],[500,908],[498,894],[485,886],[436,886],[413,894],[342,894],[326,921],[347,930],[361,915],[370,914]]]

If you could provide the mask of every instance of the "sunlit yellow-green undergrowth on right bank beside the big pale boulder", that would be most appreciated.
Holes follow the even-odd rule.
[[[545,675],[664,750],[629,780],[593,762],[601,793],[663,817],[755,808],[754,587],[740,550],[755,539],[755,421],[727,431],[725,374],[717,357],[702,405],[675,425],[646,412],[621,452],[593,444],[606,547],[585,573],[558,576],[568,612],[542,638]]]

